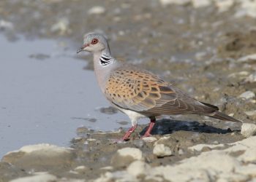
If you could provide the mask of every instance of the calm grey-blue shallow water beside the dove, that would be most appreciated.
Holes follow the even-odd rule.
[[[0,157],[34,143],[69,146],[78,127],[129,127],[124,114],[102,113],[110,104],[75,50],[64,52],[51,40],[10,42],[3,35],[0,47]]]

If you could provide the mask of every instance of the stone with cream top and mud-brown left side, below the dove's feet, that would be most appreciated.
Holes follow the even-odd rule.
[[[111,159],[111,165],[115,167],[124,167],[129,165],[135,160],[142,160],[142,151],[136,148],[123,148],[119,149],[116,154],[113,155]]]

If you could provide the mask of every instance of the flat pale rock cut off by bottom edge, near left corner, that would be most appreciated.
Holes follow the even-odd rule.
[[[16,178],[10,182],[51,182],[56,180],[57,178],[55,175],[50,175],[48,173],[39,173],[37,175]]]

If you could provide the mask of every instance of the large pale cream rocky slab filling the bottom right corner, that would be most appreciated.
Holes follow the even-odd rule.
[[[105,173],[95,181],[249,181],[256,177],[255,140],[252,136],[229,143],[227,149],[206,151],[174,165],[148,167],[135,161],[127,170]]]

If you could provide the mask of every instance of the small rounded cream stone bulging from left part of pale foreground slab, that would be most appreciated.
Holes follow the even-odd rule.
[[[143,161],[140,160],[136,160],[135,162],[132,162],[132,164],[130,164],[127,167],[127,172],[130,175],[134,175],[135,177],[138,177],[140,175],[146,175],[146,172],[149,170],[150,166]]]

